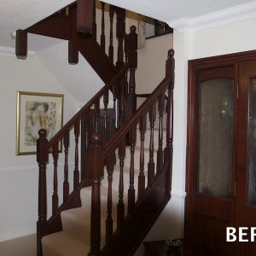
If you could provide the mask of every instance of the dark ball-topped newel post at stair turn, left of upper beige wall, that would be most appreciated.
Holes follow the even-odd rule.
[[[137,32],[136,26],[131,26],[130,34],[126,36],[127,49],[128,49],[128,62],[130,63],[130,81],[127,95],[127,103],[129,106],[129,118],[132,113],[137,109],[137,96],[136,96],[136,82],[135,82],[135,70],[137,69]],[[130,108],[131,106],[131,108]]]

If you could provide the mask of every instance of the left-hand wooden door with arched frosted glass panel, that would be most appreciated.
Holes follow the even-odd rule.
[[[196,90],[195,244],[198,254],[223,256],[233,223],[235,68],[198,71]]]

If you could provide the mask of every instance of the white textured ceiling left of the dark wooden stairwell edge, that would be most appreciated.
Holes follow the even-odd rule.
[[[0,0],[0,45],[15,47],[11,32],[32,26],[39,20],[72,3],[71,0]],[[59,41],[29,36],[28,48],[39,50]],[[35,44],[36,43],[36,44]]]

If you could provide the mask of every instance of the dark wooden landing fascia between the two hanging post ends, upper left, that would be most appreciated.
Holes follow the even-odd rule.
[[[26,28],[26,32],[49,38],[69,40],[71,35],[71,20],[68,15],[55,14]]]

